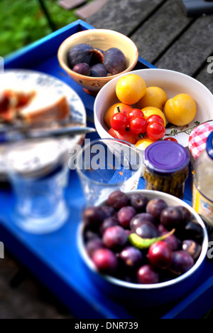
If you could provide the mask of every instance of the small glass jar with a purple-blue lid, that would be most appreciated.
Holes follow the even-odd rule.
[[[182,199],[189,174],[190,154],[176,142],[158,141],[146,148],[146,189]]]

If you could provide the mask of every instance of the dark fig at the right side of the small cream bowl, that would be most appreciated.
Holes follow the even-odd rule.
[[[111,75],[116,75],[126,69],[126,58],[119,48],[109,48],[104,51],[104,66]]]

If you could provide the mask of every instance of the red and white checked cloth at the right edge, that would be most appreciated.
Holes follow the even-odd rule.
[[[197,159],[206,148],[207,137],[213,131],[213,121],[205,122],[193,129],[189,138],[189,149],[192,156]]]

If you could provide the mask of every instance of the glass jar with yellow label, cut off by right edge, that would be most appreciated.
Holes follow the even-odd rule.
[[[213,228],[213,131],[195,164],[192,207]]]

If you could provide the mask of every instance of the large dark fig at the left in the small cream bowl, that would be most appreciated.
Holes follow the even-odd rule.
[[[70,49],[67,60],[72,69],[77,63],[88,63],[92,58],[93,48],[89,44],[78,44]]]

